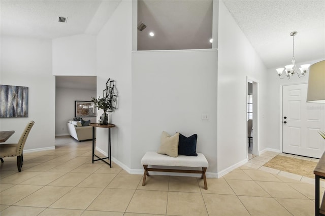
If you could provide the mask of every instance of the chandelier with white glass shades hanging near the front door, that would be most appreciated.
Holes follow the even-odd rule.
[[[291,64],[285,65],[285,68],[281,67],[276,69],[278,72],[279,78],[283,79],[285,76],[290,79],[291,76],[294,74],[297,74],[299,78],[306,75],[306,72],[310,66],[310,64],[303,64],[298,69],[296,66],[296,59],[295,59],[295,35],[297,34],[297,31],[293,31],[290,33],[290,35],[293,37],[293,60],[291,61]],[[283,71],[285,71],[285,76],[281,77],[283,74]]]

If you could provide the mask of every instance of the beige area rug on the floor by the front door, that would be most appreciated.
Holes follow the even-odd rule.
[[[314,169],[317,163],[312,161],[306,161],[297,158],[289,158],[285,156],[277,155],[272,158],[264,166],[278,169],[297,175],[303,175],[310,178],[315,178]]]

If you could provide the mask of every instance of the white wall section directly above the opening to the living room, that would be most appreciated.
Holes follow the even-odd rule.
[[[96,36],[78,34],[53,39],[53,75],[94,76]]]

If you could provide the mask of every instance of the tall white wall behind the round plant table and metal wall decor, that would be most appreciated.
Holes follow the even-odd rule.
[[[112,113],[112,157],[131,167],[131,51],[132,1],[121,1],[109,21],[97,35],[97,95],[103,95],[107,80],[115,80],[118,110]],[[99,111],[100,115],[103,111]],[[96,145],[108,152],[108,130],[97,130]]]

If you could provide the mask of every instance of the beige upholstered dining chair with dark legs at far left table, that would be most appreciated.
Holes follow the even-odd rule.
[[[0,160],[1,160],[1,162],[2,163],[4,162],[3,158],[17,156],[17,167],[18,167],[19,172],[21,171],[20,167],[22,167],[22,162],[23,162],[22,151],[24,149],[25,142],[28,137],[29,131],[30,131],[31,127],[34,125],[34,123],[35,123],[34,121],[28,122],[23,133],[20,136],[18,143],[14,143],[14,144],[6,143],[6,144],[0,145]]]

